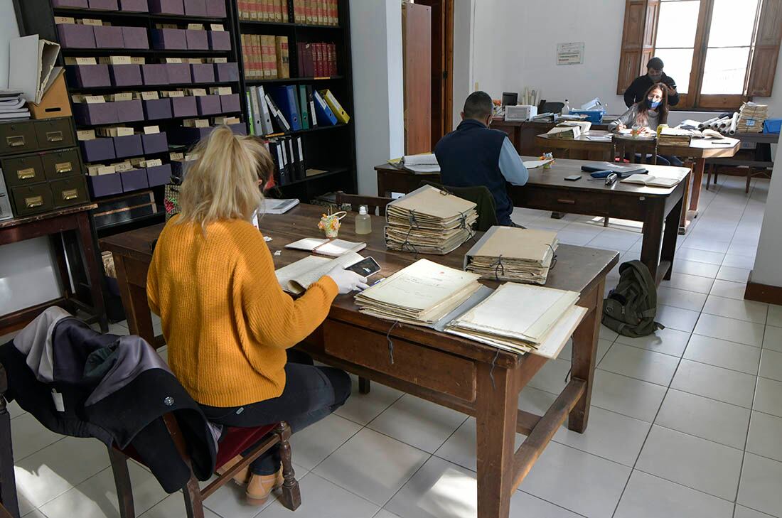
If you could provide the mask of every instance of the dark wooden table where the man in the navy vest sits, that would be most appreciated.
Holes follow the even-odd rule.
[[[522,159],[534,158],[522,156]],[[518,187],[508,184],[508,195],[513,205],[554,213],[642,221],[644,235],[640,260],[649,268],[657,284],[663,279],[669,279],[673,255],[676,253],[676,234],[687,187],[686,179],[690,171],[686,167],[646,166],[651,174],[681,180],[676,187],[669,189],[647,188],[623,182],[607,187],[604,181],[587,180],[589,175],[581,170],[584,163],[583,160],[557,159],[550,170],[541,167],[529,170],[526,185]],[[422,180],[439,182],[439,175],[414,175],[389,164],[376,166],[375,170],[381,196],[389,196],[392,191],[414,191]],[[575,182],[565,180],[572,174],[581,174],[583,178]]]

